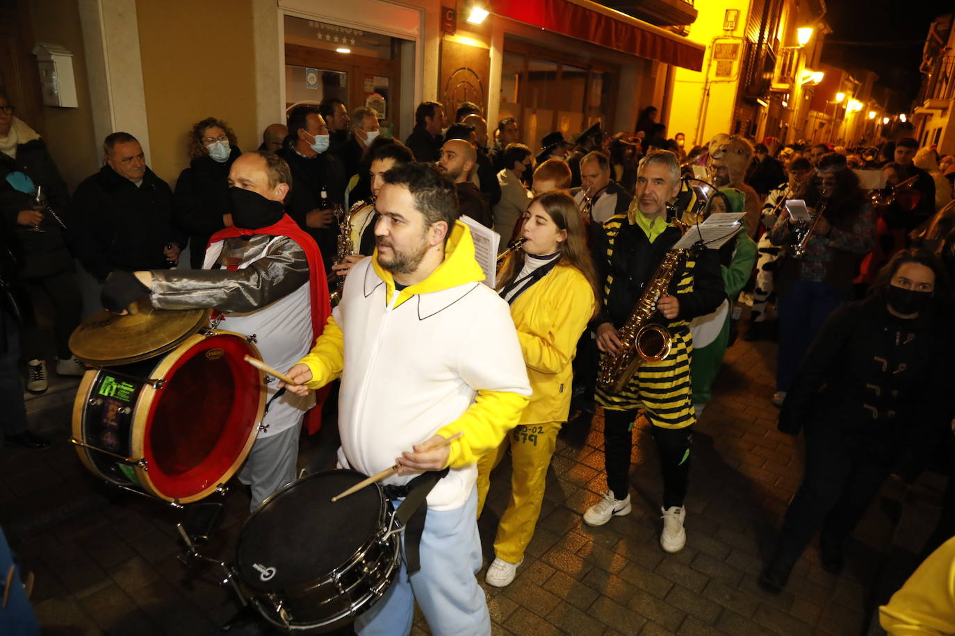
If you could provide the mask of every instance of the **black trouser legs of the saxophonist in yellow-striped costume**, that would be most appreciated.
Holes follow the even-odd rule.
[[[630,453],[636,411],[604,410],[604,460],[606,485],[617,499],[629,492]],[[690,483],[690,441],[693,427],[650,426],[663,471],[663,507],[683,505]]]

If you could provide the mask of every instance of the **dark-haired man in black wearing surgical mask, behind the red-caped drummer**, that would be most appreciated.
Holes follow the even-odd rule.
[[[334,263],[334,205],[344,205],[345,169],[329,152],[329,129],[314,106],[296,106],[288,113],[288,138],[278,153],[292,173],[286,212],[308,232],[322,252],[326,273]]]

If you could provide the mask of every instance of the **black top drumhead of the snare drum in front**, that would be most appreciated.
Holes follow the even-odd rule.
[[[383,521],[381,491],[372,484],[337,502],[331,498],[364,479],[353,470],[317,473],[265,500],[239,536],[243,581],[264,592],[288,590],[349,564]]]

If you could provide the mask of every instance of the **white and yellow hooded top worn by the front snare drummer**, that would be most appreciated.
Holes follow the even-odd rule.
[[[435,433],[464,433],[452,443],[451,471],[428,495],[435,510],[467,501],[477,458],[518,424],[531,395],[509,307],[479,282],[484,274],[474,254],[470,230],[456,222],[444,262],[400,292],[376,256],[362,259],[302,359],[311,370],[310,388],[342,379],[343,467],[373,475]]]

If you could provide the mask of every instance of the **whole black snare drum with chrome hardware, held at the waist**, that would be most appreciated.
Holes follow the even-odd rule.
[[[331,502],[364,479],[353,470],[308,475],[271,495],[245,522],[236,573],[273,625],[319,631],[347,625],[392,585],[398,533],[381,486]]]

